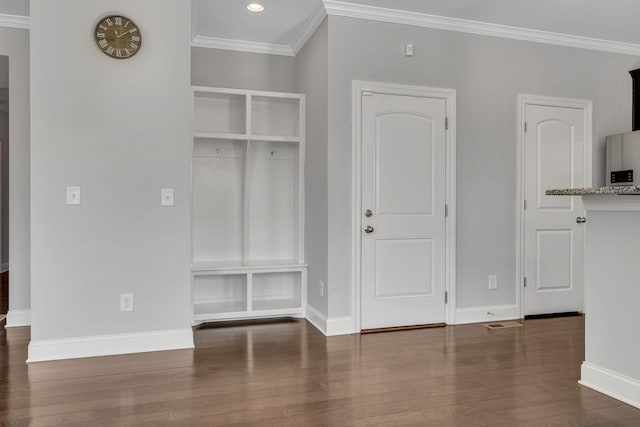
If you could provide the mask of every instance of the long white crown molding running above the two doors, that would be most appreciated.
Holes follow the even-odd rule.
[[[491,24],[488,22],[387,9],[383,7],[367,6],[335,0],[324,0],[324,6],[327,10],[327,14],[334,16],[346,16],[350,18],[369,19],[395,24],[414,25],[418,27],[524,40],[579,49],[599,50],[603,52],[622,53],[635,56],[640,55],[640,45],[633,43],[581,37],[571,34]]]

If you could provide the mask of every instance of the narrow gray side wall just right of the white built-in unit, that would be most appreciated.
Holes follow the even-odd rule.
[[[305,255],[309,264],[307,301],[327,314],[327,115],[328,25],[325,20],[298,53],[296,91],[307,95],[305,159]],[[324,296],[319,281],[324,282]]]

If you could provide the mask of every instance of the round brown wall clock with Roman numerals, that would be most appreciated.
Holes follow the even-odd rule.
[[[107,16],[98,22],[95,39],[105,55],[117,59],[131,58],[142,45],[138,26],[131,19],[120,15]]]

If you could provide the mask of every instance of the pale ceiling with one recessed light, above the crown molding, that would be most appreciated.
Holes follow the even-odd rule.
[[[400,16],[394,22],[461,31],[480,22],[493,25],[491,31],[478,31],[482,34],[508,37],[510,29],[500,26],[511,26],[517,27],[516,33],[523,30],[520,34],[537,31],[528,38],[536,41],[548,38],[542,31],[629,44],[630,49],[618,50],[640,52],[639,0],[263,0],[265,11],[258,14],[246,9],[248,2],[192,0],[194,45],[293,55],[321,22],[326,6],[338,15],[383,20]],[[0,14],[28,13],[28,0],[0,0]],[[438,17],[444,17],[446,25],[440,25]]]

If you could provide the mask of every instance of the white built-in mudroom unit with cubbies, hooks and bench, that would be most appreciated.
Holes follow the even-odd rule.
[[[193,97],[194,323],[303,316],[304,95]]]

